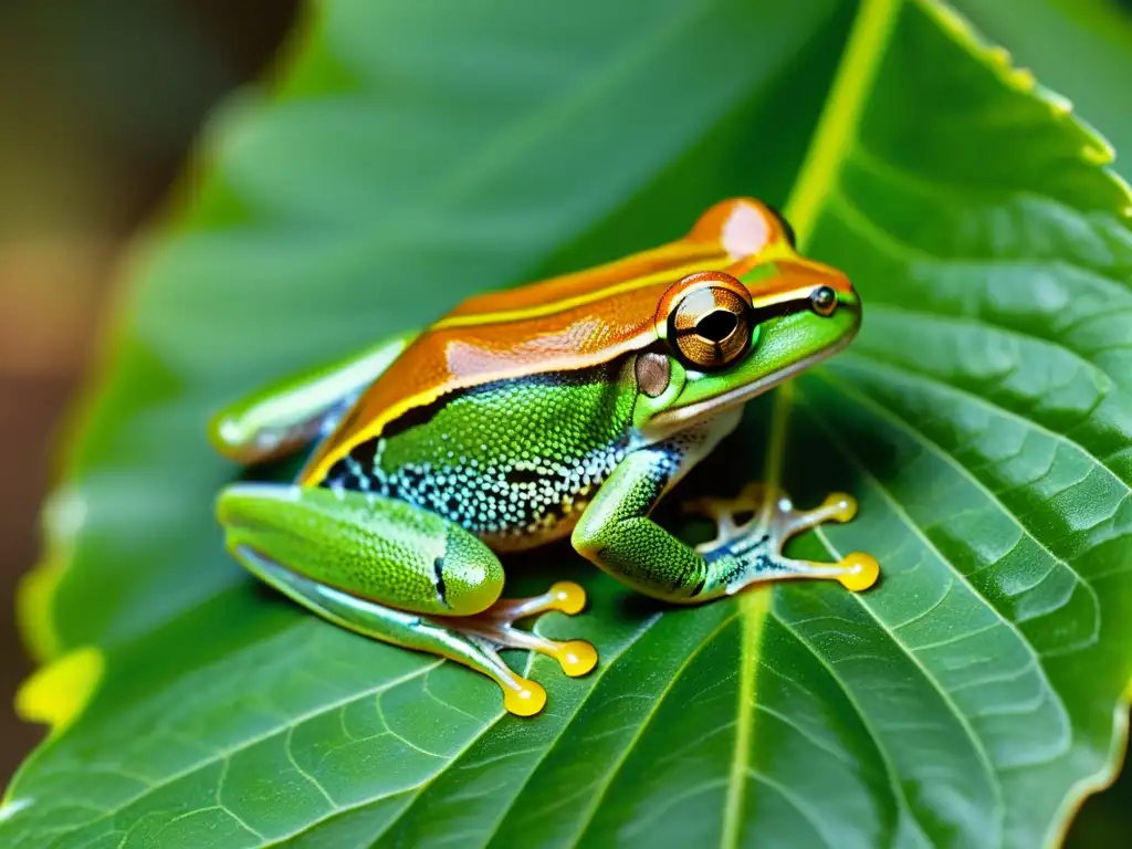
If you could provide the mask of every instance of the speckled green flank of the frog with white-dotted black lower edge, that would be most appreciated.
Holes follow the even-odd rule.
[[[487,384],[413,410],[320,484],[411,504],[496,550],[561,537],[629,448],[631,365]]]

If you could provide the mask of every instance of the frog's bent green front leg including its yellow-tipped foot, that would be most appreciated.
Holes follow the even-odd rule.
[[[684,434],[626,456],[574,529],[578,552],[636,590],[678,603],[700,603],[778,578],[834,578],[850,590],[865,590],[876,581],[876,560],[865,554],[854,552],[835,564],[782,556],[791,535],[829,520],[851,518],[856,504],[848,496],[834,495],[815,511],[797,512],[784,495],[766,497],[766,488],[755,484],[735,503],[705,504],[719,522],[719,535],[696,548],[649,518],[711,441],[707,434]],[[738,525],[734,516],[741,513],[753,517]]]

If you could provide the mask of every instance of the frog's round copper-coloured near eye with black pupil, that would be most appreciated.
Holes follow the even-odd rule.
[[[669,314],[669,343],[693,368],[724,368],[751,346],[751,303],[740,294],[746,290],[735,277],[720,272],[693,277],[700,285],[680,298]]]

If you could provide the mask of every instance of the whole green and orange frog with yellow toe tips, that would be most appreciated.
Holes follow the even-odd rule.
[[[499,686],[506,711],[538,714],[546,688],[499,652],[548,655],[569,677],[598,652],[521,627],[578,614],[586,597],[558,581],[504,598],[511,552],[568,538],[674,609],[781,578],[852,592],[877,581],[861,551],[837,563],[783,554],[795,534],[851,520],[844,492],[798,509],[781,487],[752,482],[689,501],[717,528],[698,544],[651,515],[748,401],[842,350],[860,319],[848,276],[804,257],[772,206],[718,203],[674,241],[478,294],[220,411],[211,439],[234,462],[307,452],[290,482],[221,490],[226,549],[323,618],[462,663]]]

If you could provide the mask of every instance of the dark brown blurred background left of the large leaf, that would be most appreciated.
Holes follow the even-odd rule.
[[[293,0],[0,3],[0,788],[38,739],[15,586],[63,414],[89,370],[122,243],[160,207],[203,118],[265,72]]]

